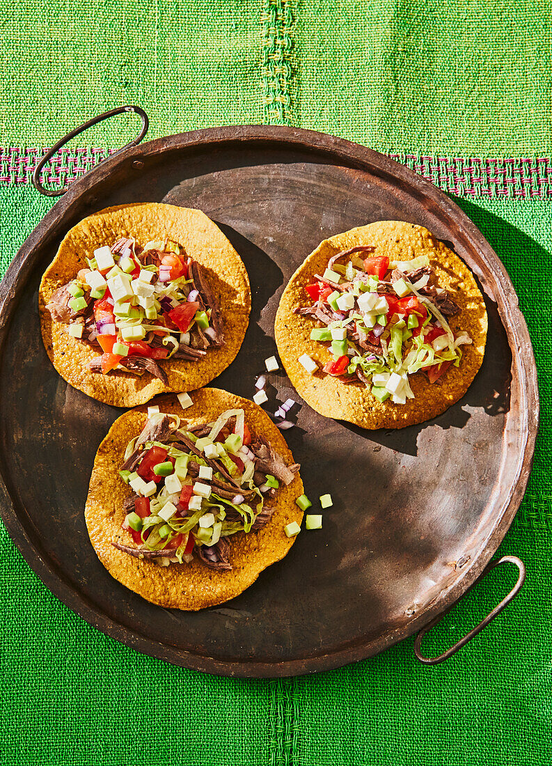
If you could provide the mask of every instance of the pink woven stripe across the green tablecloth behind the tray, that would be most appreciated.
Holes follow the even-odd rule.
[[[0,148],[0,184],[28,184],[45,149]],[[54,186],[64,185],[87,172],[114,149],[61,149],[44,174]],[[443,191],[462,197],[510,199],[552,196],[550,157],[442,157],[436,155],[391,154]]]

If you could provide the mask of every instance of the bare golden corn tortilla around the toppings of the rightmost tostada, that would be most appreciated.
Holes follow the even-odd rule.
[[[310,339],[310,332],[317,323],[309,316],[293,313],[296,306],[307,305],[305,285],[314,281],[315,273],[324,273],[332,255],[360,244],[375,247],[371,257],[410,260],[427,255],[436,283],[451,291],[460,308],[456,316],[448,319],[452,331],[467,332],[473,341],[472,345],[462,345],[459,367],[450,367],[433,385],[423,372],[409,375],[415,398],[407,399],[406,404],[378,401],[361,381],[345,384],[322,372],[310,375],[298,362],[302,354],[308,354],[322,368],[329,358],[325,346]],[[283,292],[276,313],[275,332],[279,355],[289,379],[313,409],[326,417],[375,429],[422,423],[459,401],[482,365],[487,327],[482,293],[472,272],[452,250],[422,226],[404,221],[377,221],[330,237],[306,258]]]

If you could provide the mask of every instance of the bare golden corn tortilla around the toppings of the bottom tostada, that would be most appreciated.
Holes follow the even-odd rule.
[[[286,464],[293,463],[282,434],[260,407],[219,388],[193,391],[192,407],[182,410],[175,396],[165,395],[155,400],[160,411],[177,414],[181,420],[194,426],[209,423],[228,409],[243,408],[245,421],[252,434],[263,434]],[[194,560],[190,564],[171,564],[162,567],[153,561],[133,558],[113,548],[118,540],[134,545],[129,532],[121,529],[125,518],[123,501],[132,490],[119,476],[126,445],[137,436],[145,424],[147,408],[129,410],[119,417],[100,444],[88,490],[84,511],[90,541],[104,567],[116,580],[131,591],[162,607],[197,611],[222,604],[249,588],[263,569],[283,558],[295,538],[287,538],[284,527],[290,522],[302,521],[302,512],[296,499],[303,493],[299,474],[288,486],[280,484],[276,496],[270,500],[275,507],[272,518],[258,532],[237,532],[230,535],[230,571],[214,571]]]

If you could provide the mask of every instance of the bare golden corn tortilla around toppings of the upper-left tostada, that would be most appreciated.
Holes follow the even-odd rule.
[[[224,345],[207,350],[191,362],[168,359],[160,365],[168,375],[168,385],[149,373],[138,376],[115,370],[108,375],[90,372],[88,362],[100,349],[71,337],[67,326],[54,322],[46,304],[58,287],[87,267],[85,257],[120,237],[136,237],[142,247],[165,237],[185,247],[186,253],[204,267],[205,277],[220,306],[220,326]],[[42,277],[39,290],[42,338],[47,355],[57,372],[74,388],[94,399],[116,407],[144,404],[164,391],[191,391],[207,385],[233,362],[249,322],[251,291],[247,271],[240,256],[216,224],[200,210],[176,205],[119,205],[100,210],[73,226],[60,244],[57,255]]]

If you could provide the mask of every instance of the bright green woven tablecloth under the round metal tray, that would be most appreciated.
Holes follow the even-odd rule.
[[[334,133],[406,162],[481,228],[528,320],[542,415],[528,493],[500,549],[524,559],[526,584],[435,668],[413,659],[412,640],[332,673],[274,682],[173,667],[83,623],[2,527],[0,763],[550,763],[550,21],[547,0],[5,3],[2,273],[51,205],[28,182],[38,153],[96,113],[138,103],[150,137],[232,123]],[[132,120],[81,137],[54,175],[126,142]],[[428,652],[472,627],[514,574],[492,578],[449,615]]]

